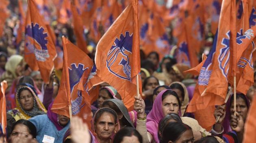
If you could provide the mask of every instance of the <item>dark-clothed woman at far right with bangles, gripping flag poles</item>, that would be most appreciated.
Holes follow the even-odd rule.
[[[234,96],[224,105],[215,109],[214,116],[220,116],[213,125],[212,135],[221,137],[226,143],[242,143],[244,123],[249,110],[249,100],[241,93],[236,94],[236,116],[234,116]]]

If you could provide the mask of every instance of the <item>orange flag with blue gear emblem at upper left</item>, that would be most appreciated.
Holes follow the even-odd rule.
[[[33,0],[28,0],[25,36],[25,61],[33,70],[40,70],[42,79],[47,84],[57,54],[50,33]]]

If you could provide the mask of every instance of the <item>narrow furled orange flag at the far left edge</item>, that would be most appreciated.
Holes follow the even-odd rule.
[[[7,82],[4,80],[1,82],[1,91],[0,91],[0,132],[7,134],[7,120],[6,120],[6,100],[5,100],[5,90],[7,88]]]

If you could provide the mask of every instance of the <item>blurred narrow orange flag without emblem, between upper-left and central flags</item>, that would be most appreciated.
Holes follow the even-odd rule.
[[[85,26],[82,23],[82,19],[80,15],[78,15],[78,9],[76,6],[71,4],[71,11],[73,15],[73,25],[74,25],[74,33],[76,35],[76,45],[85,53],[89,54],[87,50],[87,43],[85,39],[84,28]]]

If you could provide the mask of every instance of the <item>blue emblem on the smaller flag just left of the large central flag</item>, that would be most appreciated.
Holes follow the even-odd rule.
[[[71,109],[72,115],[76,115],[80,112],[82,107],[85,105],[83,101],[82,92],[81,90],[74,90],[77,88],[78,83],[81,80],[82,75],[84,72],[89,69],[88,67],[84,68],[84,65],[79,63],[78,66],[75,63],[71,64],[71,69],[69,68],[69,84],[70,84],[70,95],[73,95],[73,91],[77,91],[77,98],[71,101]],[[88,92],[88,91],[87,91]]]

